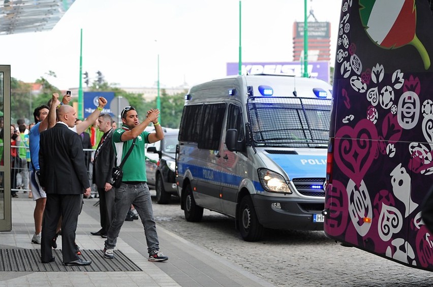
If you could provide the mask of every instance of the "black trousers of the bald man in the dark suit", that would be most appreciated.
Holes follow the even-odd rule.
[[[61,219],[61,251],[63,262],[78,260],[75,246],[78,214],[82,199],[80,195],[47,194],[44,218],[42,220],[41,260],[48,262],[52,257],[51,241],[56,233],[60,215]]]

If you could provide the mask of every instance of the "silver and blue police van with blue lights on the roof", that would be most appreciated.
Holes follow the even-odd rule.
[[[323,230],[331,85],[247,75],[192,87],[176,148],[188,221],[203,208],[234,217],[246,241],[264,228]]]

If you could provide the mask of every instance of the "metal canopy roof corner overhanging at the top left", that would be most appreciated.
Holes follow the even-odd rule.
[[[75,0],[0,0],[0,35],[51,30]]]

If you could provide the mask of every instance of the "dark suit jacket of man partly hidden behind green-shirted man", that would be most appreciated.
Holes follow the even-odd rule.
[[[113,136],[114,130],[108,132],[108,134],[101,138],[104,139],[102,145],[101,142],[98,144],[96,157],[93,162],[93,182],[98,187],[104,187],[106,182],[110,182],[111,170],[114,167],[116,155],[114,153],[114,147],[111,143],[111,137]],[[99,146],[101,148],[98,151]]]

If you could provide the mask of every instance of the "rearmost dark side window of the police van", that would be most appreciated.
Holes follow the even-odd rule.
[[[179,126],[179,141],[198,142],[203,105],[185,106]]]

